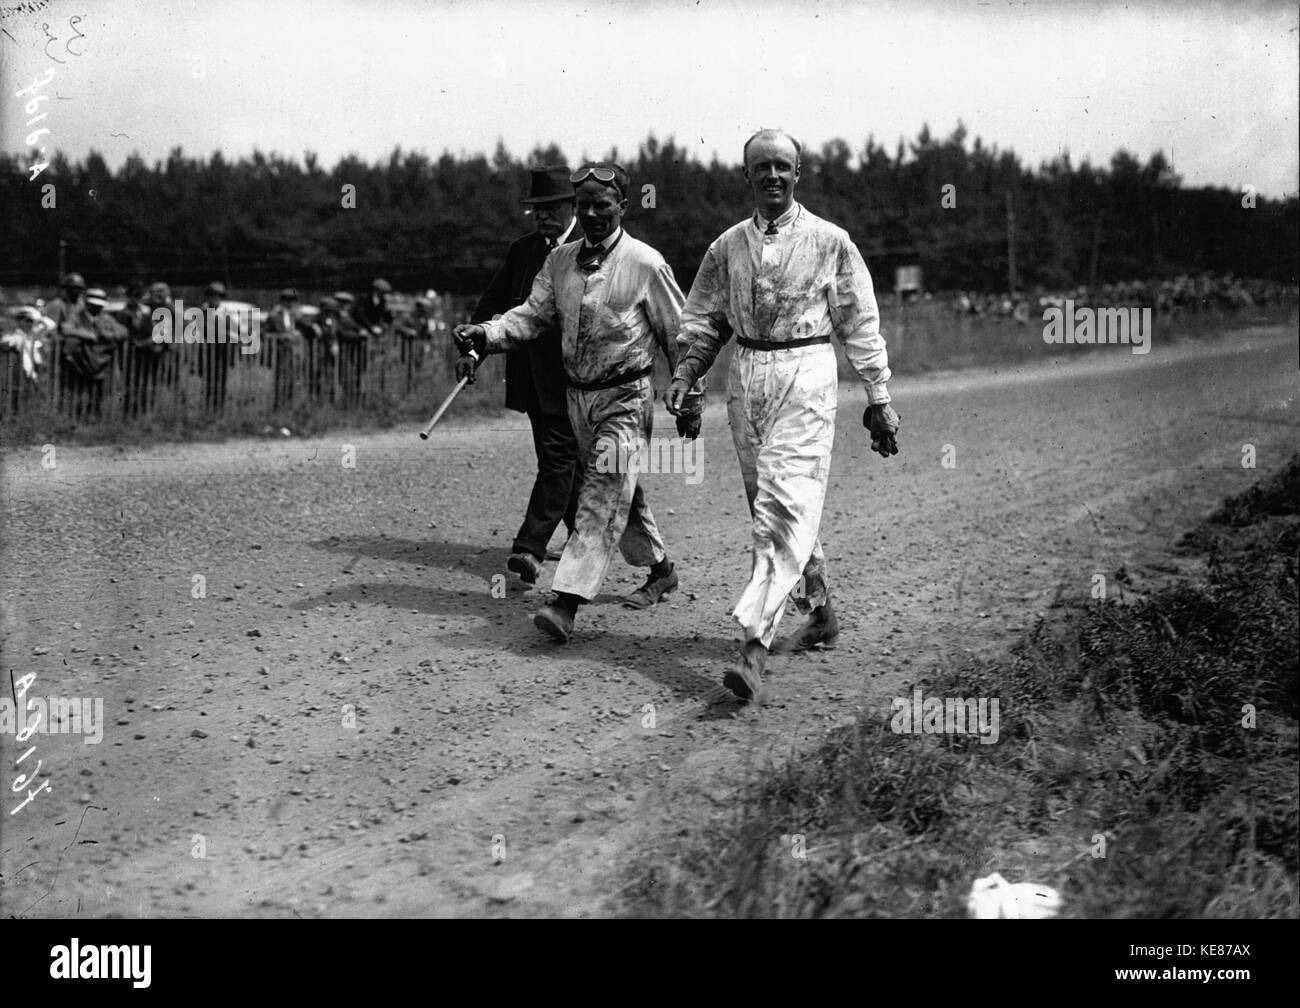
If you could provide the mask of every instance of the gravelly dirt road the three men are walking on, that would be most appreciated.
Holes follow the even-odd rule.
[[[841,646],[774,659],[760,711],[719,698],[749,525],[716,397],[702,481],[645,477],[680,593],[625,610],[641,572],[616,564],[568,646],[506,574],[521,416],[429,442],[56,445],[52,468],[8,451],[5,666],[35,674],[29,698],[101,698],[103,739],[0,736],[0,912],[611,913],[627,857],[746,767],[1005,646],[1061,585],[1140,577],[1297,441],[1295,329],[892,388],[889,462],[841,393],[822,529]]]

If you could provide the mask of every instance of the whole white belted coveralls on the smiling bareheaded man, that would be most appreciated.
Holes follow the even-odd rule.
[[[758,216],[705,254],[682,310],[673,377],[696,385],[737,336],[727,412],[754,522],[753,568],[733,615],[770,648],[794,593],[803,611],[829,598],[818,538],[835,444],[838,381],[833,332],[872,405],[889,402],[889,360],[871,274],[842,228],[798,203],[764,234]],[[749,341],[803,346],[749,349]],[[801,583],[802,579],[802,583]]]

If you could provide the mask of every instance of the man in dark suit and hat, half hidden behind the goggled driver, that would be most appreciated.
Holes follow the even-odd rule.
[[[530,208],[537,230],[510,246],[506,264],[471,316],[473,323],[488,321],[528,300],[550,251],[582,237],[575,226],[569,169],[551,165],[530,172],[528,196],[520,202]],[[569,423],[564,388],[559,325],[506,355],[506,408],[528,415],[537,453],[533,493],[506,563],[526,584],[534,584],[542,572],[555,527],[563,520],[569,535],[573,533],[581,480],[577,437]]]

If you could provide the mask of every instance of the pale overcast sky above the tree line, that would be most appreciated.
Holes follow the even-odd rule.
[[[49,127],[39,146],[114,165],[176,146],[333,164],[498,139],[576,161],[654,133],[734,163],[758,126],[892,151],[961,118],[1034,166],[1122,146],[1164,150],[1192,186],[1294,195],[1300,176],[1295,4],[42,3],[0,21],[9,151]],[[48,68],[55,100],[27,126],[14,92]]]

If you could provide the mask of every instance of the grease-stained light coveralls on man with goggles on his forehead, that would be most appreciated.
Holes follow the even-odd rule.
[[[618,550],[633,567],[667,557],[636,466],[598,464],[610,446],[647,442],[654,421],[654,350],[676,364],[681,289],[645,242],[619,232],[594,271],[577,263],[586,242],[562,245],[542,264],[528,300],[482,323],[489,352],[536,339],[559,320],[568,412],[585,459],[573,537],[551,589],[595,598]],[[698,403],[698,399],[696,401]],[[621,458],[621,453],[616,453]],[[625,471],[620,471],[625,470]]]

